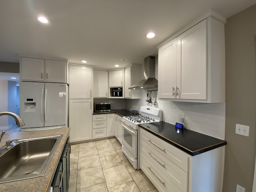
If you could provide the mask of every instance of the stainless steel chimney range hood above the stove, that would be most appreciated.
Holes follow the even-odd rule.
[[[145,79],[132,85],[131,87],[129,87],[129,89],[157,88],[158,80],[156,80],[155,75],[156,75],[156,57],[147,56],[144,59],[144,77],[145,77]]]

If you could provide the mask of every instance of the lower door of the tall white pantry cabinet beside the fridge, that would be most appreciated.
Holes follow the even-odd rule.
[[[70,142],[92,139],[91,105],[90,99],[69,100]]]

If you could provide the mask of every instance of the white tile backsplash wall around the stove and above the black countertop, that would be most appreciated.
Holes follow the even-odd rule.
[[[156,79],[158,79],[158,58],[156,57]],[[141,99],[126,99],[127,110],[140,110],[146,106],[147,90]],[[156,107],[162,109],[162,120],[171,124],[178,122],[178,114],[185,114],[185,126],[215,138],[225,138],[225,103],[172,102],[170,99],[157,99]]]

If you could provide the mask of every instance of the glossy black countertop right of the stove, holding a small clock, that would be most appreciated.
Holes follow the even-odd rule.
[[[175,130],[175,125],[163,121],[144,123],[139,126],[192,156],[227,144],[225,140],[188,129],[183,129],[182,132],[178,133]]]

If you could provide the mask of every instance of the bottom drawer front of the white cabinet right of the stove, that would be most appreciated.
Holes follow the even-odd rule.
[[[182,192],[148,158],[141,153],[140,168],[159,192]]]

